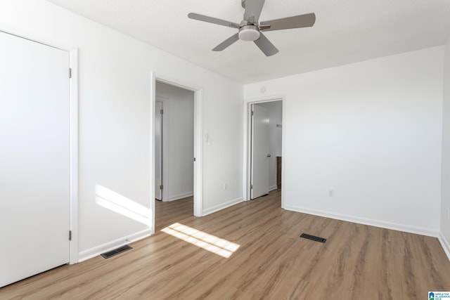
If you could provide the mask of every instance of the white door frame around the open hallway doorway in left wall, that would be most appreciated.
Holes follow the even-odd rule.
[[[152,210],[152,233],[155,233],[155,103],[156,103],[156,81],[160,81],[171,86],[194,92],[194,216],[203,216],[203,88],[185,82],[183,80],[168,77],[165,74],[150,71],[150,174],[152,182],[150,184],[150,209]],[[193,157],[193,158],[194,158]]]

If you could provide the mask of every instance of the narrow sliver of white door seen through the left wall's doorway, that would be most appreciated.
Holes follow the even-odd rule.
[[[155,198],[162,200],[162,102],[155,107]]]

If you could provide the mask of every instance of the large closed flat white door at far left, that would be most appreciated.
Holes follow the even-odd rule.
[[[0,287],[69,261],[69,53],[0,32]]]

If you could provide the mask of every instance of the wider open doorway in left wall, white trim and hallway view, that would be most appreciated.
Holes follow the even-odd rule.
[[[174,204],[176,201],[191,196],[191,203],[193,203],[191,211],[193,206],[193,215],[202,216],[201,107],[203,103],[203,89],[193,84],[167,79],[167,77],[153,72],[152,89],[152,131],[154,137],[152,161],[154,162],[153,174],[155,177],[150,194],[153,196],[150,198],[150,207],[153,209],[154,232],[155,202],[158,202],[158,207],[160,207],[161,203],[171,202]],[[181,99],[176,104],[176,99],[173,99],[174,91],[178,91],[179,95],[188,95],[189,100],[186,98],[184,100]],[[161,118],[158,119],[155,114],[160,107],[162,108],[162,114]],[[161,139],[157,141],[156,139],[159,140],[157,132],[157,127],[159,126],[161,128]],[[181,133],[181,131],[176,133],[174,127],[190,129],[190,133]],[[172,159],[177,157],[174,154],[175,152],[179,152],[178,159],[181,160]],[[184,165],[184,171],[177,171],[176,167],[180,167],[181,164]],[[190,166],[190,169],[186,168],[186,166]],[[160,178],[160,184],[158,184],[158,178]],[[176,188],[176,184],[180,182],[184,183]],[[161,189],[160,185],[162,185]],[[188,187],[191,189],[189,190]],[[160,197],[158,198],[157,196]],[[162,201],[155,201],[156,198]]]

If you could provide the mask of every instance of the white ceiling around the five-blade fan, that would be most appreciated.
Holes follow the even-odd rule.
[[[445,44],[449,0],[266,0],[260,21],[316,13],[314,27],[266,32],[280,51],[252,42],[211,51],[236,29],[191,20],[195,12],[239,23],[240,0],[48,0],[241,83]]]

